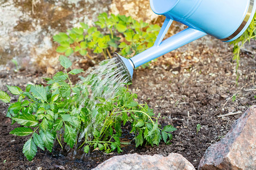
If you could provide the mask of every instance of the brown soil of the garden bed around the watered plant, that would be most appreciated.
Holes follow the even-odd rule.
[[[27,138],[9,134],[18,125],[11,125],[10,119],[5,117],[8,105],[0,103],[0,169],[92,169],[115,155],[167,156],[171,152],[183,155],[197,168],[205,150],[228,133],[246,108],[256,104],[255,57],[243,53],[240,63],[238,85],[232,49],[203,44],[188,47],[185,52],[168,53],[152,62],[150,68],[135,70],[130,89],[138,94],[138,101],[148,103],[156,115],[161,113],[159,124],[174,125],[177,131],[173,133],[171,145],[160,143],[135,148],[132,143],[123,146],[121,154],[94,151],[83,160],[78,156],[71,159],[72,155],[67,150],[61,151],[56,144],[52,153],[39,150],[28,162],[22,154]],[[6,91],[6,84],[24,89],[28,82],[44,83],[41,78],[45,76],[29,69],[18,73],[1,71],[0,90]],[[12,100],[16,100],[15,97]],[[226,113],[237,114],[218,117]],[[198,133],[197,124],[201,125]]]

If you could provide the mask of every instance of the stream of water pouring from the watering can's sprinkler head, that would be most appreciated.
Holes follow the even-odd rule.
[[[97,97],[104,97],[106,100],[112,99],[118,88],[125,86],[124,83],[128,83],[129,80],[125,66],[119,62],[117,57],[104,60],[98,66],[86,71],[85,76],[79,82],[82,90],[79,99],[80,107],[77,112],[80,112],[86,105],[86,108],[91,111],[91,121],[80,133],[78,142],[81,142],[84,138],[92,138],[93,131],[100,128],[104,123],[98,122],[99,120],[96,118],[99,113],[95,105],[100,102]],[[84,96],[89,96],[89,98]],[[76,155],[76,153],[73,155]]]

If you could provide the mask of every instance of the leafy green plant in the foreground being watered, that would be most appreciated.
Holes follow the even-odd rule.
[[[14,103],[6,92],[0,91],[0,100],[10,103],[6,116],[11,118],[12,124],[20,125],[10,134],[30,135],[23,146],[23,154],[28,160],[34,158],[38,147],[51,152],[55,139],[62,148],[67,143],[69,147],[83,148],[85,152],[89,152],[91,146],[105,152],[115,149],[121,152],[121,125],[127,122],[131,124],[130,133],[134,134],[137,147],[143,143],[159,145],[161,139],[170,143],[170,132],[176,129],[171,125],[160,129],[158,117],[154,117],[152,109],[134,101],[137,95],[132,94],[128,87],[120,87],[113,99],[97,97],[98,102],[92,109],[87,90],[90,80],[72,84],[70,77],[83,70],[71,70],[72,62],[65,56],[60,56],[59,61],[64,71],[52,78],[44,78],[46,87],[28,84],[26,91],[22,91],[16,86],[7,86],[11,94],[19,96]],[[85,99],[84,102],[80,102],[80,98]],[[89,126],[93,118],[97,125]],[[88,133],[84,135],[82,131],[86,128]]]

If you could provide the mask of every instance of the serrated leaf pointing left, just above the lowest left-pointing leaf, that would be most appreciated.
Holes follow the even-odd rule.
[[[33,114],[20,114],[18,117],[14,117],[13,120],[15,120],[18,124],[22,126],[35,126],[38,125],[38,121],[36,120],[35,115]]]

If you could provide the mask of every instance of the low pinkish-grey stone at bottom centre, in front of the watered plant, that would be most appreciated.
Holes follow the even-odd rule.
[[[167,157],[162,155],[138,155],[128,154],[122,156],[114,156],[99,164],[94,170],[128,170],[128,169],[195,169],[180,154],[171,153]]]

